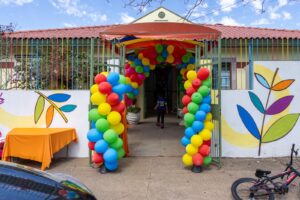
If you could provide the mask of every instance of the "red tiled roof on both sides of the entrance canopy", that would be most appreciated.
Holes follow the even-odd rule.
[[[29,30],[6,33],[5,36],[10,38],[91,38],[99,37],[101,32],[105,32],[107,28],[118,25],[107,26],[86,26],[76,28],[61,28],[61,29],[44,29],[44,30]],[[300,39],[300,30],[286,29],[268,29],[254,28],[244,26],[225,26],[222,24],[204,24],[203,26],[216,29],[221,32],[221,37],[225,39],[237,38],[297,38]]]

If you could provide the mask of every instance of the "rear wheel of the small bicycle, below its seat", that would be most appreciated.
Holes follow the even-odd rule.
[[[274,194],[266,188],[257,188],[256,191],[250,191],[250,188],[256,183],[254,178],[240,178],[233,182],[231,194],[235,200],[273,200]]]

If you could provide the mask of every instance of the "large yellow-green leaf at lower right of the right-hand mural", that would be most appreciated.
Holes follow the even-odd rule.
[[[274,122],[262,138],[263,143],[274,142],[286,136],[296,125],[299,113],[287,114]]]

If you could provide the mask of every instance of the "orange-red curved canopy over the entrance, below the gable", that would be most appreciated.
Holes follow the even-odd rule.
[[[100,33],[105,40],[120,40],[126,48],[143,48],[157,43],[193,48],[199,41],[217,41],[221,32],[198,24],[149,22],[118,25]]]

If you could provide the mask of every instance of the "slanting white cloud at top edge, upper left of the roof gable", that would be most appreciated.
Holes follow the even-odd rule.
[[[76,17],[87,17],[93,22],[105,22],[107,16],[94,12],[92,8],[80,3],[80,0],[50,0],[51,4],[62,12]]]

